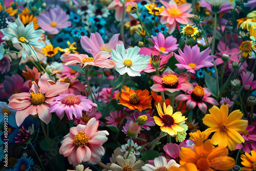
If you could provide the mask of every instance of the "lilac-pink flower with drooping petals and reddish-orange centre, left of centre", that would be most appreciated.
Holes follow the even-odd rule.
[[[56,112],[57,116],[62,118],[65,112],[68,119],[73,120],[73,114],[76,118],[81,118],[82,111],[91,112],[93,106],[97,107],[97,104],[86,96],[61,94],[50,103],[49,113]]]

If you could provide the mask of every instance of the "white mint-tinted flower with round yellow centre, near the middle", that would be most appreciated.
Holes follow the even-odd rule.
[[[125,53],[124,45],[117,44],[116,50],[112,50],[112,60],[116,62],[116,71],[120,75],[127,73],[129,76],[140,76],[139,71],[147,68],[151,57],[139,55],[140,48],[134,47],[127,49]]]

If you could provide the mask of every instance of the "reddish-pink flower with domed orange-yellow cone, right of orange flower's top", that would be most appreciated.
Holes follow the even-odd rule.
[[[192,89],[193,86],[188,81],[188,73],[176,74],[169,67],[163,72],[162,76],[153,75],[151,79],[156,82],[151,87],[154,92],[174,93],[180,90]]]

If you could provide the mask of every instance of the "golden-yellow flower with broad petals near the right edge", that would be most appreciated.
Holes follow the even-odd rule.
[[[209,109],[210,114],[205,115],[203,123],[209,126],[205,133],[215,132],[211,137],[212,144],[227,146],[230,151],[236,150],[236,143],[243,143],[245,140],[239,134],[246,129],[246,120],[241,120],[243,114],[240,110],[231,112],[228,115],[228,105],[221,105],[220,109],[214,105]]]

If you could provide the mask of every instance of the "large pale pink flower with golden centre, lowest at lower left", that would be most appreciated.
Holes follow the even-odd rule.
[[[81,162],[97,164],[105,154],[102,146],[108,140],[108,131],[97,131],[99,122],[95,118],[87,125],[79,124],[70,128],[70,133],[61,141],[59,153],[68,157],[69,163],[74,166]]]

